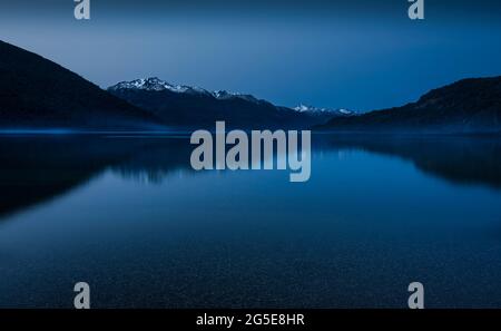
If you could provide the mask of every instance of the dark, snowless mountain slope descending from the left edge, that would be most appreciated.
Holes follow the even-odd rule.
[[[158,124],[61,66],[0,41],[0,128],[151,129]]]

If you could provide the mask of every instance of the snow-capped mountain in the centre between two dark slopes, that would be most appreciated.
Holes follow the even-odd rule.
[[[234,128],[306,128],[333,117],[275,106],[252,95],[171,85],[156,77],[122,81],[108,91],[184,128],[213,128],[216,120]]]

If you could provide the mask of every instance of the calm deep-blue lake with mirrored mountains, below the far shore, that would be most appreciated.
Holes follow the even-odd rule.
[[[0,306],[501,306],[501,139],[312,137],[288,171],[186,136],[0,137]]]

